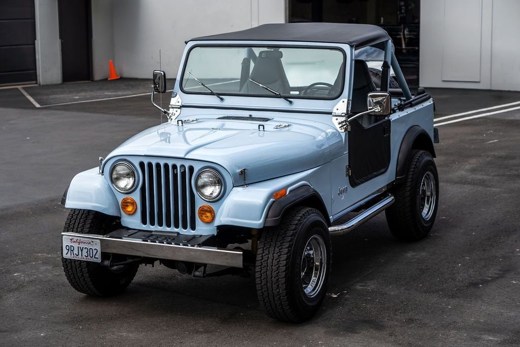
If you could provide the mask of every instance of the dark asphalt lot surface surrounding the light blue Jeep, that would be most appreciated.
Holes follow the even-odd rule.
[[[520,100],[431,92],[436,117]],[[0,91],[0,345],[520,345],[520,110],[440,126],[431,234],[398,242],[381,214],[334,238],[327,298],[300,325],[267,317],[253,278],[141,266],[115,298],[69,286],[63,190],[159,119],[149,95],[35,108]]]

